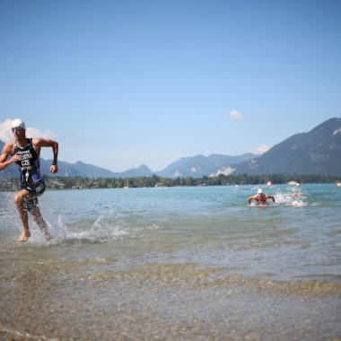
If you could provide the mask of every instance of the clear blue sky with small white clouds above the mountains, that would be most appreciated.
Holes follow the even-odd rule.
[[[341,116],[340,17],[338,0],[2,0],[0,139],[23,118],[59,160],[113,171],[266,150]]]

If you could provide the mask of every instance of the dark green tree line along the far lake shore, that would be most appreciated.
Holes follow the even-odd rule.
[[[97,178],[89,179],[83,177],[47,177],[45,179],[48,189],[85,189],[85,188],[155,188],[155,187],[189,187],[189,186],[227,186],[227,185],[258,185],[271,181],[273,184],[286,184],[289,181],[304,183],[334,183],[340,182],[341,176],[326,175],[219,175],[217,177],[202,177],[194,179],[186,178],[162,178],[157,175],[152,177],[134,178]],[[18,178],[1,179],[0,190],[17,190],[20,188]]]

